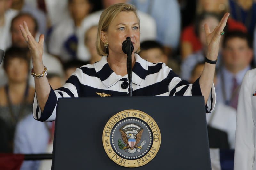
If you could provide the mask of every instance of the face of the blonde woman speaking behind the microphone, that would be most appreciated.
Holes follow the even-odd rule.
[[[101,40],[108,41],[109,54],[124,54],[122,43],[126,37],[131,38],[133,53],[140,47],[139,21],[134,12],[120,12],[111,22],[107,32],[101,32]]]

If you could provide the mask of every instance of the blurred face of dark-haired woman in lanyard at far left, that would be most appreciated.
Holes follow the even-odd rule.
[[[28,78],[28,63],[21,58],[12,58],[6,67],[8,80],[16,83],[26,81]]]

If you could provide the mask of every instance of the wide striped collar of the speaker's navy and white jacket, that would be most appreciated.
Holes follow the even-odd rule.
[[[102,83],[107,87],[111,87],[116,84],[122,78],[127,78],[128,75],[125,76],[117,75],[108,65],[107,57],[103,56],[102,59],[94,63],[94,68],[99,75]],[[148,71],[148,62],[142,59],[138,54],[135,54],[135,64],[132,68],[132,83],[136,85],[141,85],[147,76]]]

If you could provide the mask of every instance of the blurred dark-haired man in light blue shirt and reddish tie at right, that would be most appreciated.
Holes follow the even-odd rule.
[[[222,67],[216,85],[217,101],[237,108],[238,93],[246,71],[251,69],[252,42],[247,33],[225,34],[222,46]]]

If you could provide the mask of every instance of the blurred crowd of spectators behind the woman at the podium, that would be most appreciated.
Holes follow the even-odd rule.
[[[230,13],[224,29],[214,85],[215,110],[207,114],[211,148],[234,149],[238,93],[247,70],[255,67],[256,2],[254,0],[0,0],[0,152],[52,152],[54,122],[32,117],[32,61],[20,32],[26,22],[33,37],[45,35],[43,63],[53,89],[61,87],[77,67],[101,59],[96,51],[102,11],[130,3],[140,17],[139,55],[164,62],[193,83],[204,69],[207,42],[204,24],[213,31]],[[256,44],[256,43],[255,43]],[[49,169],[51,163],[25,161],[21,169]]]

